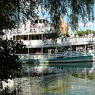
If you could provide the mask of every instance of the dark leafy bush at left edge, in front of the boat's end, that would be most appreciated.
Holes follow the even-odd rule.
[[[0,40],[0,81],[13,79],[21,74],[22,63],[16,62],[16,49],[22,44],[12,40]]]

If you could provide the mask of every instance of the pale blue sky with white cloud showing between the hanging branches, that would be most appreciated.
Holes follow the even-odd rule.
[[[48,15],[48,12],[45,13],[45,15],[43,16],[43,14],[39,11],[38,15],[40,17],[47,18],[50,21],[50,17]],[[94,16],[95,16],[95,5],[94,5]],[[67,23],[67,18],[66,17],[64,17],[63,20]],[[86,26],[84,26],[84,23],[83,22],[79,22],[79,28],[78,28],[78,30],[85,31],[87,29],[90,29],[90,30],[94,30],[95,31],[95,20],[93,22],[88,22],[86,24]],[[72,31],[71,28],[70,28],[70,26],[69,26],[69,31],[70,31],[70,34],[74,34],[76,32],[76,31]]]

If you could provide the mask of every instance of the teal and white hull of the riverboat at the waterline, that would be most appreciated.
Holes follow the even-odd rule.
[[[47,66],[47,67],[92,67],[95,65],[95,56],[86,55],[78,57],[57,57],[52,59],[20,59],[25,66]]]

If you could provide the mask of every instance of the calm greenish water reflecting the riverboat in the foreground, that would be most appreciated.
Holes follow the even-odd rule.
[[[51,68],[52,69],[52,68]],[[54,68],[53,68],[54,69]],[[95,95],[95,75],[91,68],[55,68],[57,72],[16,78],[10,95]]]

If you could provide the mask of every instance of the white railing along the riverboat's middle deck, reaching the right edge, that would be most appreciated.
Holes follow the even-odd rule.
[[[73,45],[73,44],[89,44],[95,43],[95,38],[67,38],[67,39],[47,39],[47,40],[23,40],[25,45],[30,45],[32,47],[36,46],[47,46],[47,45]]]

